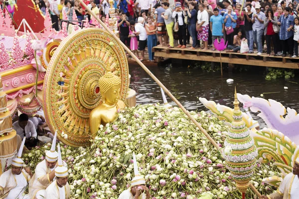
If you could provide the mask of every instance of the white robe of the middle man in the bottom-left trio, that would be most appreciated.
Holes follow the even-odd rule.
[[[49,173],[53,170],[54,168],[49,169],[47,167],[46,160],[36,165],[35,174],[29,184],[30,199],[34,199],[35,195],[37,199],[44,197],[46,188],[52,183],[49,178]]]

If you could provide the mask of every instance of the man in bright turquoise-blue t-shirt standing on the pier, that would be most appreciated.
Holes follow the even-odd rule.
[[[223,38],[224,32],[224,19],[222,15],[219,15],[218,8],[213,9],[214,15],[210,18],[210,29],[212,32],[212,43],[214,43],[215,39],[220,41]],[[212,50],[215,50],[213,48]]]

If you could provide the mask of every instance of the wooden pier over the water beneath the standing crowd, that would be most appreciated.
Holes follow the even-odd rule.
[[[159,57],[174,58],[174,59],[186,59],[186,60],[198,60],[206,62],[220,62],[220,52],[212,50],[201,49],[188,49],[188,48],[167,48],[166,46],[155,46],[152,48],[156,61],[159,61]],[[299,58],[290,58],[282,56],[267,56],[263,53],[262,56],[253,54],[241,54],[241,53],[226,53],[221,51],[222,63],[251,65],[251,66],[265,66],[275,68],[289,68],[299,69]]]

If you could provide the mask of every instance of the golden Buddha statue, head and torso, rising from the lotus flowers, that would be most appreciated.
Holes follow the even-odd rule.
[[[120,99],[121,79],[112,74],[110,66],[106,73],[99,79],[99,88],[102,102],[95,107],[89,116],[91,136],[95,137],[100,125],[106,125],[115,120],[117,112],[126,107]]]

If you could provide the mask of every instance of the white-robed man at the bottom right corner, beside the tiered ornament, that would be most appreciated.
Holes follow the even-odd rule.
[[[299,199],[299,156],[293,166],[293,172],[284,178],[277,192],[262,196],[262,199]]]

